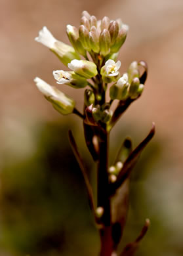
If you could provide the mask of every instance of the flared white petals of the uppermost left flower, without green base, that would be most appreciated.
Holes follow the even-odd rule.
[[[39,36],[35,37],[35,41],[42,43],[50,49],[54,49],[54,43],[56,43],[57,40],[54,38],[52,33],[47,29],[47,27],[43,27],[42,30],[39,31]]]

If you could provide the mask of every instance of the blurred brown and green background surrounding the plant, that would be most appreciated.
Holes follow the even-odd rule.
[[[152,121],[157,127],[134,169],[121,247],[136,238],[149,217],[152,226],[136,255],[182,255],[183,1],[1,0],[0,10],[0,255],[98,253],[98,234],[67,137],[72,127],[94,181],[81,121],[60,116],[33,83],[39,76],[55,85],[52,70],[66,69],[34,37],[47,26],[68,43],[66,25],[79,26],[83,10],[98,19],[121,18],[130,26],[119,55],[121,73],[132,60],[146,60],[149,66],[142,97],[111,136],[112,161],[126,136],[136,146]],[[83,89],[61,87],[82,110]]]

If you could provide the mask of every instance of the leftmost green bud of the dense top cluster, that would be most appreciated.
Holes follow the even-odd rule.
[[[81,55],[85,56],[86,51],[85,51],[85,49],[83,49],[83,46],[82,46],[81,42],[79,41],[79,32],[78,32],[77,28],[75,28],[74,26],[71,26],[71,25],[67,25],[67,34],[68,34],[68,38],[70,39],[71,45],[73,46],[75,51],[77,51]]]

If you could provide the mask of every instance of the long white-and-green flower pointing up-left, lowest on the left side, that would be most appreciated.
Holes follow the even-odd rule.
[[[68,115],[73,112],[75,101],[70,96],[65,95],[56,87],[52,87],[39,77],[35,77],[35,84],[45,98],[52,103],[52,106],[62,115]]]

